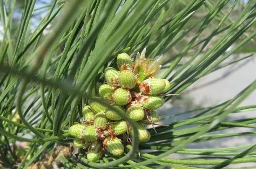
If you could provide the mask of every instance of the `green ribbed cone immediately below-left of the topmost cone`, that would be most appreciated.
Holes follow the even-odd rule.
[[[108,67],[105,69],[104,77],[109,85],[117,86],[119,81],[118,76],[119,72],[115,68]]]

